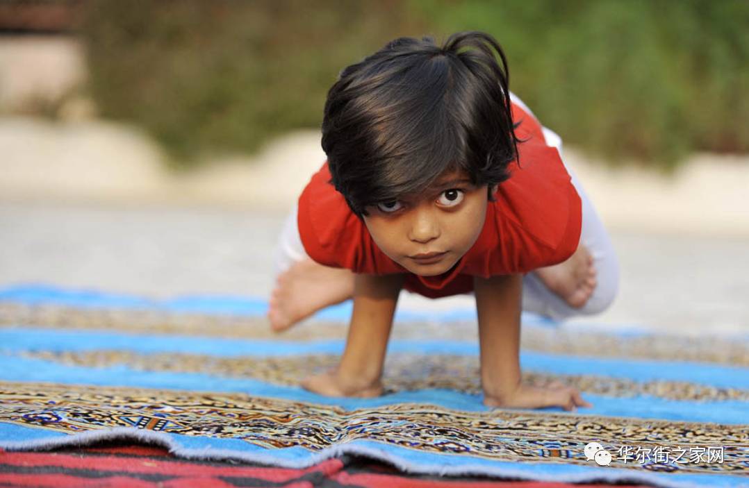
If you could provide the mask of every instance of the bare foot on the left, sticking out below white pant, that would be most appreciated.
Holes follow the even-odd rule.
[[[281,332],[321,308],[335,305],[354,294],[354,274],[306,259],[294,263],[276,278],[270,294],[270,327]]]

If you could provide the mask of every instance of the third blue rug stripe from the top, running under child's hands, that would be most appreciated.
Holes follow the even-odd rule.
[[[259,397],[336,405],[348,410],[373,408],[395,403],[428,403],[449,409],[469,411],[490,410],[482,404],[481,396],[451,390],[400,391],[377,398],[330,398],[310,393],[296,386],[273,385],[257,379],[227,378],[204,373],[142,371],[125,366],[88,368],[60,365],[56,362],[22,356],[5,356],[2,358],[2,365],[0,380],[4,381],[225,391],[246,393]],[[648,395],[604,397],[585,393],[583,396],[593,404],[593,407],[580,408],[577,412],[591,415],[745,424],[747,420],[746,412],[749,410],[749,403],[736,400],[696,403],[667,400]],[[560,408],[543,410],[563,412]]]

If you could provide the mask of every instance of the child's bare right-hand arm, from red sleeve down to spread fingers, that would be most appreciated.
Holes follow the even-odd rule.
[[[559,382],[545,387],[525,385],[520,370],[522,275],[474,278],[479,315],[481,384],[484,403],[508,408],[592,406],[577,388]]]

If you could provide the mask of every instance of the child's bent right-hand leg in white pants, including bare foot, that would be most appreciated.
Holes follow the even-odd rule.
[[[546,128],[544,132],[547,143],[557,147],[561,155],[559,136]],[[613,302],[619,287],[619,264],[606,229],[595,213],[595,208],[577,175],[571,168],[566,168],[582,201],[583,225],[580,232],[580,248],[565,263],[528,273],[523,283],[523,309],[557,320],[604,311]],[[561,290],[570,290],[576,281],[580,286],[578,290],[584,288],[579,280],[586,273],[585,263],[588,257],[592,259],[592,269],[595,271],[595,286],[579,304],[581,306],[573,306],[578,303],[570,300],[570,296]]]

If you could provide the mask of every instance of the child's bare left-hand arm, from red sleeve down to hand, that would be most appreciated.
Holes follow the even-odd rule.
[[[382,394],[380,376],[403,280],[404,275],[356,275],[354,311],[341,362],[334,370],[305,379],[304,388],[330,397]]]

